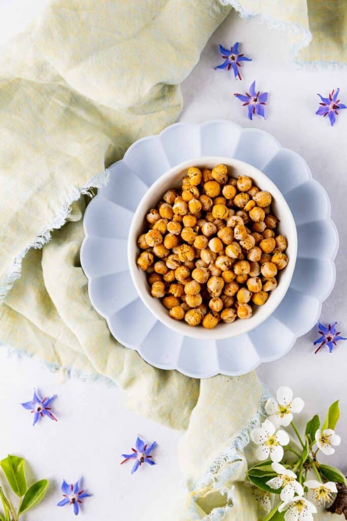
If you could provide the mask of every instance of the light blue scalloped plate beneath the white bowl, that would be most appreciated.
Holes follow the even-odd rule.
[[[163,325],[139,298],[127,266],[128,230],[147,188],[198,156],[233,157],[259,168],[285,196],[298,232],[297,263],[284,299],[260,326],[227,340],[201,341]],[[81,263],[92,304],[123,345],[153,366],[195,378],[241,375],[284,356],[316,324],[335,283],[339,240],[327,193],[297,153],[267,132],[232,121],[176,123],[134,143],[109,172],[109,183],[84,216]]]

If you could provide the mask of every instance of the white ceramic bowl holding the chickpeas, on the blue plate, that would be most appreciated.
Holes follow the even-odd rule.
[[[272,208],[274,214],[279,218],[278,231],[287,238],[288,248],[286,254],[289,263],[284,270],[278,272],[278,286],[274,291],[269,293],[269,298],[263,306],[253,305],[253,315],[246,320],[237,319],[232,324],[220,322],[214,329],[205,329],[202,326],[191,327],[184,320],[174,320],[170,317],[169,311],[165,309],[159,299],[154,299],[150,294],[150,287],[144,271],[136,264],[136,259],[140,253],[137,246],[138,235],[146,229],[146,214],[150,208],[155,208],[161,200],[162,195],[169,188],[179,188],[183,177],[186,176],[187,169],[190,166],[199,168],[213,168],[218,164],[224,164],[228,168],[229,175],[237,177],[238,175],[249,176],[260,190],[266,190],[273,196]],[[227,157],[203,156],[189,159],[184,163],[171,168],[164,173],[151,187],[137,206],[132,224],[130,227],[127,243],[128,266],[134,286],[148,309],[155,315],[165,326],[173,329],[179,334],[198,339],[221,340],[236,337],[239,334],[246,333],[259,326],[267,317],[269,317],[279,305],[285,296],[294,272],[295,261],[297,258],[298,239],[297,229],[289,206],[278,190],[276,185],[258,168],[248,163],[244,163],[238,159],[230,159]]]

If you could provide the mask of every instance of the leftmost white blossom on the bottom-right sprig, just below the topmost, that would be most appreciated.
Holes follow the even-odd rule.
[[[256,445],[259,445],[255,451],[256,458],[263,461],[270,456],[275,463],[280,462],[283,457],[282,445],[289,443],[287,432],[284,430],[276,432],[275,426],[269,420],[263,421],[261,427],[252,430],[251,439]]]

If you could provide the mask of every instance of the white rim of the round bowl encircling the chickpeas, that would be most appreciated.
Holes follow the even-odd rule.
[[[136,257],[139,253],[137,246],[137,236],[139,223],[143,222],[145,212],[151,207],[150,200],[153,195],[161,194],[164,190],[161,190],[162,185],[170,178],[182,174],[184,170],[187,170],[189,166],[206,167],[207,165],[225,164],[227,167],[236,168],[242,175],[248,175],[252,179],[255,178],[255,182],[262,190],[268,190],[274,196],[274,200],[280,206],[280,213],[284,213],[287,222],[290,224],[290,229],[286,230],[286,236],[290,234],[290,242],[288,241],[288,247],[291,249],[290,262],[286,267],[285,271],[281,274],[281,282],[272,292],[271,299],[256,309],[256,313],[247,320],[236,320],[232,324],[221,324],[214,329],[205,329],[202,327],[191,327],[183,320],[174,320],[170,317],[168,310],[159,303],[158,299],[153,299],[149,290],[148,283],[145,279],[145,274],[140,270],[136,264]],[[260,181],[259,181],[260,178]],[[264,183],[262,184],[262,181]],[[264,186],[265,184],[265,186]],[[267,186],[266,186],[267,185]],[[288,226],[288,225],[287,225]],[[156,318],[162,322],[165,326],[169,327],[173,331],[187,336],[190,338],[203,339],[203,340],[224,340],[227,338],[233,338],[240,334],[248,333],[249,331],[258,327],[264,322],[270,315],[273,314],[277,306],[284,299],[287,290],[290,286],[290,282],[293,276],[295,263],[297,260],[298,252],[298,236],[297,228],[291,210],[285,200],[284,195],[276,187],[275,183],[269,179],[264,172],[254,167],[253,165],[246,163],[240,159],[234,159],[225,156],[198,156],[185,160],[179,163],[169,170],[165,171],[146,191],[142,199],[139,201],[136,211],[134,213],[131,226],[128,232],[127,239],[127,261],[128,268],[131,274],[132,281],[135,289],[149,311],[156,316]],[[158,306],[158,303],[160,306]],[[157,305],[156,305],[157,304]]]

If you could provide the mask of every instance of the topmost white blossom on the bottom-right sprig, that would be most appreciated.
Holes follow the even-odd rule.
[[[276,399],[269,398],[265,405],[268,419],[278,428],[280,425],[287,427],[293,419],[293,413],[301,413],[304,401],[301,398],[293,399],[293,391],[289,387],[279,387]]]

